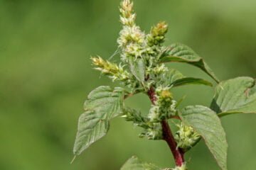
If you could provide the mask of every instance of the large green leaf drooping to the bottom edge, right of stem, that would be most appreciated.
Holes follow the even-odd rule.
[[[179,113],[181,120],[203,137],[221,169],[227,169],[228,144],[218,115],[205,106],[187,106]]]

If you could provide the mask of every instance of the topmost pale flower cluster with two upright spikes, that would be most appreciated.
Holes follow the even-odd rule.
[[[151,32],[146,35],[135,24],[136,14],[130,0],[122,1],[119,11],[123,28],[119,33],[117,42],[122,49],[122,61],[128,62],[129,57],[135,59],[144,57],[146,60],[151,60],[149,56],[154,55],[155,57],[161,50],[159,45],[164,42],[168,30],[166,22],[157,23],[156,26],[151,28]]]

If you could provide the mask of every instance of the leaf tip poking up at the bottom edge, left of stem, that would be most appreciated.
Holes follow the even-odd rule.
[[[159,167],[153,164],[148,164],[140,161],[137,157],[130,158],[122,166],[121,170],[161,170]]]

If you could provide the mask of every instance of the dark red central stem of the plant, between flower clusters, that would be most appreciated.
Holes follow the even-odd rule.
[[[147,92],[147,94],[150,98],[151,103],[155,104],[156,95],[155,95],[154,88],[151,87]],[[169,145],[169,148],[171,149],[171,153],[174,156],[176,166],[182,166],[183,162],[185,162],[183,157],[184,153],[180,148],[177,147],[177,143],[174,140],[174,135],[172,135],[171,128],[169,127],[168,122],[166,120],[162,120],[161,127],[162,127],[162,133],[163,133],[163,140],[165,140]]]

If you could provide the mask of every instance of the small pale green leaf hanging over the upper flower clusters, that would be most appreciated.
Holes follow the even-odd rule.
[[[137,58],[137,60],[130,59],[129,60],[129,68],[136,77],[137,80],[139,80],[142,84],[144,84],[145,81],[145,64],[142,59]]]

